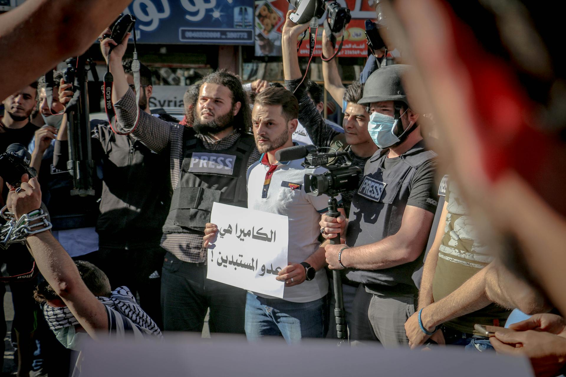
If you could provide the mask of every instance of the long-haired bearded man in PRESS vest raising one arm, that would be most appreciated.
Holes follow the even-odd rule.
[[[226,71],[205,76],[192,127],[167,123],[145,112],[136,123],[134,92],[121,64],[127,38],[120,45],[103,40],[106,59],[110,45],[114,45],[109,67],[114,75],[112,102],[118,131],[131,133],[156,153],[170,156],[174,192],[161,238],[167,251],[161,280],[163,328],[201,332],[210,308],[211,332],[243,333],[246,292],[206,280],[207,252],[202,242],[213,202],[247,206],[246,170],[260,157],[254,138],[246,133],[251,126],[250,107],[242,83]],[[164,171],[165,166],[155,170]],[[132,187],[128,182],[127,186],[143,192],[148,183]]]

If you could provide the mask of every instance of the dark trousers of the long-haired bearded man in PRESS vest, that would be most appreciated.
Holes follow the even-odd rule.
[[[244,333],[246,291],[208,280],[203,263],[183,262],[165,254],[161,309],[165,331],[203,331],[210,308],[210,332]]]

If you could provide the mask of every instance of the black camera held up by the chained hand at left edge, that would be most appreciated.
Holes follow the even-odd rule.
[[[32,156],[25,146],[10,144],[6,151],[0,154],[0,176],[12,187],[20,187],[22,175],[27,174],[30,179],[37,175],[36,170],[29,166],[31,162]]]

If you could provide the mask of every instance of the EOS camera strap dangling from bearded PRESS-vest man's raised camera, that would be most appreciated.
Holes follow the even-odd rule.
[[[132,73],[134,73],[134,85],[136,88],[136,119],[134,122],[134,127],[130,132],[119,132],[116,128],[116,112],[114,110],[114,104],[112,103],[112,87],[114,85],[114,76],[110,73],[110,54],[112,53],[112,47],[108,51],[108,63],[106,63],[106,73],[104,74],[104,109],[106,111],[106,117],[108,118],[108,123],[110,123],[110,128],[117,135],[130,135],[134,132],[136,127],[138,127],[140,119],[140,62],[138,60],[138,49],[136,46],[136,31],[132,28],[132,34],[134,36],[134,56],[132,58]]]

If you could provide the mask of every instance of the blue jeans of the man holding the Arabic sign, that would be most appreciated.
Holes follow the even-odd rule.
[[[324,337],[328,332],[327,296],[310,302],[290,302],[248,292],[245,328],[248,340],[283,336],[291,344],[306,337]]]

